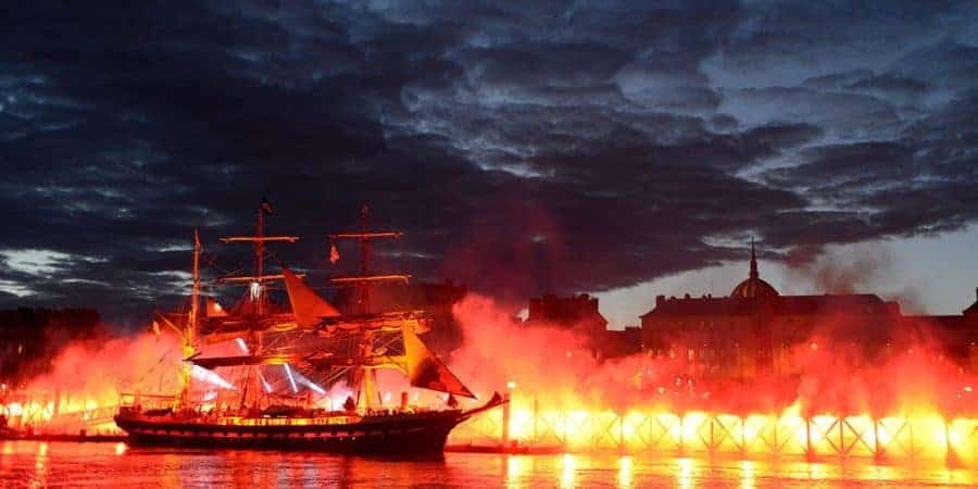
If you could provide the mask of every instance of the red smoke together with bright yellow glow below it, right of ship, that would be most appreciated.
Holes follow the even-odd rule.
[[[486,384],[476,386],[481,392],[519,386],[510,390],[506,417],[509,441],[519,448],[711,452],[747,460],[953,455],[978,463],[971,455],[978,453],[978,412],[967,389],[978,379],[943,362],[927,338],[869,358],[840,342],[832,335],[836,325],[827,324],[776,359],[792,365],[797,385],[786,383],[785,372],[758,372],[751,364],[742,365],[753,372],[750,380],[725,384],[689,374],[699,353],[694,361],[651,352],[595,359],[573,328],[514,324],[486,298],[469,296],[453,313],[466,341],[452,355],[452,368],[477,372]],[[449,443],[498,447],[502,419],[488,413],[456,428]],[[744,466],[744,486],[751,467]]]

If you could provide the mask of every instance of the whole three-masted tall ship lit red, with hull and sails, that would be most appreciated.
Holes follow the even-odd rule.
[[[338,260],[336,242],[353,241],[360,251],[359,274],[329,280],[348,298],[341,312],[280,260],[280,273],[265,273],[269,243],[299,240],[266,236],[264,218],[271,213],[263,199],[254,235],[222,238],[253,247],[251,275],[204,284],[195,231],[189,308],[183,314],[158,314],[153,323],[158,333],[165,327],[180,338],[180,389],[175,396],[125,396],[115,423],[131,444],[440,453],[455,426],[507,402],[493,393],[484,403],[460,408],[455,397],[476,396],[418,336],[429,325],[424,311],[372,308],[375,285],[405,285],[410,278],[371,273],[372,242],[400,233],[368,230],[364,206],[358,231],[329,236],[330,262]],[[202,291],[215,285],[246,290],[224,310]],[[269,298],[276,288],[285,289],[288,305]],[[385,371],[411,388],[393,402],[391,391],[383,392],[378,384],[378,372]],[[446,398],[437,408],[419,405],[409,397],[417,389]]]

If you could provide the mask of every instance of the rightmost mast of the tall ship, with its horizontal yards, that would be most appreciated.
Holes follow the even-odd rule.
[[[352,277],[336,277],[331,278],[329,281],[334,285],[353,285],[356,287],[356,303],[353,308],[353,314],[359,315],[365,322],[371,314],[371,286],[378,281],[404,281],[406,283],[410,275],[371,275],[371,240],[372,239],[380,239],[380,238],[400,238],[402,233],[400,231],[383,231],[383,233],[372,233],[367,230],[367,217],[369,214],[369,209],[366,204],[364,204],[360,209],[360,233],[338,233],[334,235],[329,235],[330,239],[351,239],[359,241],[360,247],[360,275]],[[374,355],[374,334],[371,331],[364,333],[360,342],[360,355],[364,359],[369,359]],[[368,362],[363,362],[360,365],[360,381],[359,388],[360,393],[358,396],[358,404],[360,404],[363,409],[369,410],[373,409],[375,404],[379,403],[380,399],[374,399],[374,396],[377,394],[376,391],[376,365],[368,365]],[[377,401],[377,402],[375,402]]]

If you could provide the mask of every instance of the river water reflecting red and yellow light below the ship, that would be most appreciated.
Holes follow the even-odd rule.
[[[446,453],[390,461],[318,453],[128,448],[124,443],[0,442],[2,487],[976,487],[978,472],[868,460],[738,461],[662,455]]]

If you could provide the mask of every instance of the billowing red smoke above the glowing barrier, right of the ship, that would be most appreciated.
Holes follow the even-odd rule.
[[[925,333],[908,327],[862,330],[842,313],[826,316],[791,348],[795,372],[756,375],[745,383],[690,375],[684,359],[640,353],[599,362],[581,347],[587,339],[573,330],[524,326],[491,299],[475,294],[456,304],[454,314],[465,342],[452,354],[451,365],[463,380],[480,392],[502,390],[513,381],[521,392],[561,406],[665,405],[738,413],[797,405],[807,414],[956,414],[968,406],[965,388],[978,386]]]

